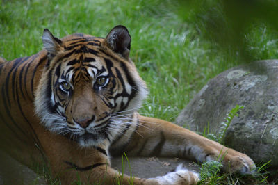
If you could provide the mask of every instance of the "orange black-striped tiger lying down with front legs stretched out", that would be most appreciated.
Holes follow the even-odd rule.
[[[61,184],[196,184],[183,165],[152,178],[124,175],[111,157],[165,156],[220,161],[252,173],[254,161],[177,124],[138,113],[149,93],[131,61],[131,35],[115,26],[106,38],[42,35],[44,49],[0,63],[1,150],[34,169],[47,164]]]

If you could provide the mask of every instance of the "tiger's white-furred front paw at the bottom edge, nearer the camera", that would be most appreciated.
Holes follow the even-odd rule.
[[[199,174],[187,170],[182,164],[177,166],[174,172],[168,172],[164,176],[154,178],[158,181],[158,184],[197,184],[199,181]]]

